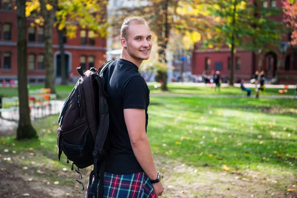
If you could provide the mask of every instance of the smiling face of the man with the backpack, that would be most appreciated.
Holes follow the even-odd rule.
[[[149,58],[152,47],[151,34],[147,24],[130,24],[128,28],[128,40],[123,47],[133,61],[142,62]]]

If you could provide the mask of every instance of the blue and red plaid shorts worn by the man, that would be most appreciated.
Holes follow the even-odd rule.
[[[90,181],[91,182],[91,181]],[[99,189],[99,180],[88,185],[86,198],[94,198],[94,188]],[[89,194],[89,195],[88,195]],[[147,174],[134,173],[128,175],[104,174],[104,198],[156,198]]]

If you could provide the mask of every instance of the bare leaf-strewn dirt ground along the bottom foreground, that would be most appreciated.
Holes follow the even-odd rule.
[[[28,169],[32,170],[30,172],[24,171],[12,161],[0,158],[0,198],[84,198],[85,191],[75,182],[74,171],[50,171],[34,163],[28,165]],[[162,183],[165,187],[162,198],[297,198],[297,193],[286,192],[290,186],[283,186],[282,183],[286,181],[296,184],[296,178],[292,175],[275,178],[248,170],[241,173],[211,172],[207,167],[195,169],[165,159],[157,159],[157,164],[158,169],[162,170]],[[44,172],[46,177],[49,174],[56,175],[56,180],[70,182],[73,187],[68,187],[69,184],[54,185],[52,181],[36,177],[36,169]],[[89,170],[82,171],[85,187]]]

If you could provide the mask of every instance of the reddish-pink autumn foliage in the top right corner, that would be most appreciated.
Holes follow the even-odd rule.
[[[292,30],[291,45],[297,45],[297,0],[283,0],[284,22]]]

